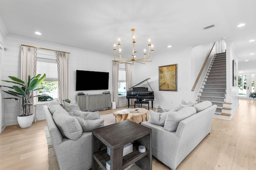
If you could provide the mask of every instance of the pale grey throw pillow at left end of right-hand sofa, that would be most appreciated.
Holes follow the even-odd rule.
[[[153,110],[148,111],[148,122],[155,125],[164,126],[164,121],[170,112],[154,112]]]

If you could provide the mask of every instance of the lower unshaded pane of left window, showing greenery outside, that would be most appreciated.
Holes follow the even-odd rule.
[[[54,98],[58,98],[58,81],[43,81],[42,84],[38,86],[45,87],[38,90],[38,94],[47,94],[47,96],[38,97],[38,102],[51,101]]]

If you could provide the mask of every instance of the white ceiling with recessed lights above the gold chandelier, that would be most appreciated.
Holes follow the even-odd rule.
[[[255,6],[255,0],[0,0],[0,17],[5,37],[108,55],[114,55],[120,38],[122,57],[132,55],[132,28],[138,55],[148,49],[148,39],[158,55],[226,37],[227,43],[234,42],[239,62],[250,62],[256,61],[256,41],[248,42],[256,39]],[[240,23],[246,25],[237,27]]]

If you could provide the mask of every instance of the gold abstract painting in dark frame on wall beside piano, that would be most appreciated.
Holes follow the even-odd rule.
[[[177,66],[178,64],[159,66],[159,90],[177,90]]]

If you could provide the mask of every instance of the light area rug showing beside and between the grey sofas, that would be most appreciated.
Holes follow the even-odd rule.
[[[100,118],[104,119],[105,126],[115,123],[115,116],[113,115],[113,113],[100,115]],[[48,146],[49,170],[59,170],[60,168],[56,159],[56,155],[52,145],[52,139],[50,138],[50,134],[47,126],[45,127],[45,136],[46,136],[47,146]]]

